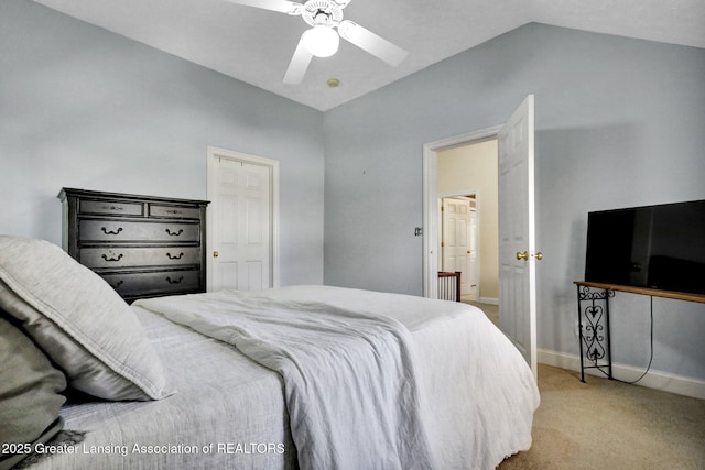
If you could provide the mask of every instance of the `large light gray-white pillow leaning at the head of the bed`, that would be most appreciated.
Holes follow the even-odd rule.
[[[106,400],[170,394],[132,309],[58,247],[0,236],[0,308],[22,323],[74,389]]]

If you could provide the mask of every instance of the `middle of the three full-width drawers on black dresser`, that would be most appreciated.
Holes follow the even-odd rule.
[[[199,264],[199,247],[83,248],[78,261],[88,267],[176,266]]]

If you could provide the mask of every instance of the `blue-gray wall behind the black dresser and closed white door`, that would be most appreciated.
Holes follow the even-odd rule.
[[[206,147],[281,162],[281,283],[323,282],[323,116],[25,0],[0,2],[0,233],[62,186],[206,198]]]

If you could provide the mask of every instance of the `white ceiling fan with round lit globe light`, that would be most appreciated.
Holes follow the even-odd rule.
[[[343,9],[350,0],[307,0],[304,3],[289,0],[228,1],[291,15],[301,15],[308,25],[313,26],[304,31],[299,40],[294,56],[284,74],[285,84],[300,84],[314,56],[329,57],[335,54],[338,50],[339,37],[393,66],[401,64],[408,54],[406,51],[359,24],[343,20]]]

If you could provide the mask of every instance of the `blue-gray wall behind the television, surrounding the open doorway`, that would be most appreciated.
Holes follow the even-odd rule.
[[[529,24],[326,112],[325,283],[422,295],[422,145],[536,107],[539,347],[577,353],[589,210],[705,199],[705,51]],[[648,297],[615,360],[646,367]],[[705,379],[705,304],[654,300],[653,369]]]

